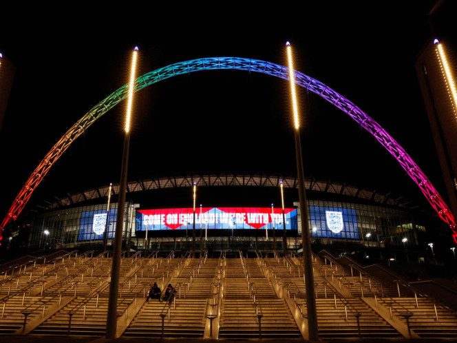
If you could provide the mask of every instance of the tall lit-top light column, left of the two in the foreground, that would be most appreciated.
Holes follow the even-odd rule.
[[[113,262],[111,267],[111,282],[109,282],[109,300],[108,313],[106,321],[106,337],[116,338],[117,329],[117,310],[118,310],[118,291],[119,291],[119,276],[120,276],[120,253],[123,249],[123,224],[125,211],[125,191],[127,189],[127,168],[129,165],[129,145],[130,145],[130,121],[131,107],[134,101],[134,86],[135,86],[135,70],[136,59],[138,56],[138,47],[135,47],[132,53],[129,81],[129,98],[127,100],[127,111],[125,114],[125,136],[124,136],[124,152],[123,163],[120,170],[120,187],[118,200],[118,215],[116,220],[116,233],[114,235]]]

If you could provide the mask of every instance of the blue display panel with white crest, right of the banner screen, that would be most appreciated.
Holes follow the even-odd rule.
[[[312,237],[359,239],[355,209],[310,206]]]

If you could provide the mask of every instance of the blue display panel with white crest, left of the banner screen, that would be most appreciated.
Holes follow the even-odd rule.
[[[109,210],[108,218],[108,238],[114,238],[116,229],[117,209]],[[81,240],[103,240],[103,233],[106,225],[106,209],[96,209],[94,211],[85,211],[81,213],[79,222],[78,241]]]

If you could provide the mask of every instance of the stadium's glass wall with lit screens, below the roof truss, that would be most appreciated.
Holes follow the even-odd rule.
[[[286,209],[285,216],[290,249],[301,245],[298,203],[294,205],[295,208]],[[106,204],[39,214],[31,224],[29,246],[70,248],[101,244],[105,227],[110,245],[116,229],[116,207],[110,206],[108,220]],[[414,246],[418,245],[417,231],[425,231],[425,227],[416,225],[410,212],[392,207],[308,200],[308,210],[312,240],[323,245],[348,242],[370,247]],[[173,214],[176,214],[175,225],[167,223],[167,216],[171,222],[175,220]],[[253,219],[255,214],[257,217]],[[192,220],[192,209],[140,209],[140,204],[129,203],[123,240],[134,249],[190,249]],[[281,249],[281,209],[272,213],[268,207],[211,207],[202,209],[200,214],[197,208],[195,229],[198,249],[200,233],[203,249],[273,249],[275,236],[276,247]],[[406,242],[402,241],[404,238]]]

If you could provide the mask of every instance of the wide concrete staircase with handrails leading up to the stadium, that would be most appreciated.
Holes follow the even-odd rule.
[[[164,337],[209,337],[206,313],[216,309],[213,337],[258,338],[261,335],[278,340],[302,337],[296,324],[299,323],[300,328],[306,326],[301,259],[224,261],[123,258],[118,300],[118,313],[122,316],[118,320],[118,334],[125,330],[125,337],[160,337],[162,313]],[[105,335],[111,259],[83,256],[43,262],[12,266],[8,273],[0,275],[0,335],[22,333],[23,311],[28,313],[24,334]],[[313,256],[313,267],[321,339],[407,337],[406,321],[401,316],[405,312],[413,313],[409,320],[413,337],[457,339],[457,314],[434,305],[431,298],[418,297],[417,306],[415,298],[399,298],[395,284],[386,287],[384,283],[381,287],[376,278],[357,274],[355,267],[351,273],[349,267],[343,268],[330,258],[326,264],[323,258]],[[223,282],[215,282],[218,270],[222,271]],[[161,289],[168,283],[177,291],[180,289],[176,302],[170,307],[158,300],[145,302],[153,282],[158,282]],[[212,286],[216,283],[223,289],[219,295],[222,300],[217,298],[216,301],[217,293]],[[382,293],[385,298],[380,296]],[[392,318],[388,304],[392,307]],[[301,306],[304,317],[295,306]],[[69,313],[72,314],[70,329]],[[360,313],[360,330],[355,313]]]

